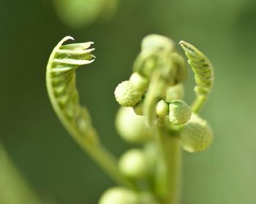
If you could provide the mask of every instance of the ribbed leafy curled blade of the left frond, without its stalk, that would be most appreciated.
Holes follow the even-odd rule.
[[[94,61],[89,49],[93,42],[62,45],[73,38],[66,36],[57,44],[50,55],[46,81],[50,102],[69,133],[83,138],[94,136],[89,112],[80,106],[76,89],[75,70]]]

